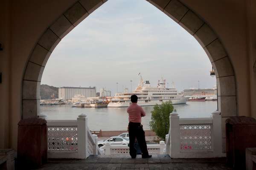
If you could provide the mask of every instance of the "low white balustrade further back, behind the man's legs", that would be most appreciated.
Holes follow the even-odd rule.
[[[160,141],[159,144],[147,144],[148,153],[151,155],[164,154],[165,142]],[[105,155],[129,155],[129,147],[126,144],[110,144],[109,142],[105,143],[104,146],[100,147],[101,150],[104,150]]]

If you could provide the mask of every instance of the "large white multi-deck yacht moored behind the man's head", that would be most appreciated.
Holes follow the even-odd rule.
[[[157,87],[151,87],[149,81],[143,81],[140,76],[140,83],[133,92],[116,93],[108,107],[120,108],[128,107],[131,104],[131,95],[138,96],[138,105],[152,106],[161,105],[162,102],[172,101],[172,104],[186,104],[189,97],[177,91],[176,88],[166,88],[165,80],[158,81]]]

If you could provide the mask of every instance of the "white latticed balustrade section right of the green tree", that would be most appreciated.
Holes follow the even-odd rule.
[[[209,118],[183,118],[170,114],[170,129],[166,135],[166,154],[172,158],[222,157],[221,114]]]

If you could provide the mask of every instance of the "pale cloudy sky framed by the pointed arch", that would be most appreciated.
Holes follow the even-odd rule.
[[[138,73],[151,86],[163,77],[175,87],[212,88],[212,65],[197,40],[145,0],[108,0],[64,37],[41,84],[134,89]]]

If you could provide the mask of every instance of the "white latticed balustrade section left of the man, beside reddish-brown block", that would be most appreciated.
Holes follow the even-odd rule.
[[[38,115],[47,119],[44,114]],[[97,135],[88,128],[85,114],[77,120],[47,120],[48,158],[86,159],[90,155],[101,154]]]

